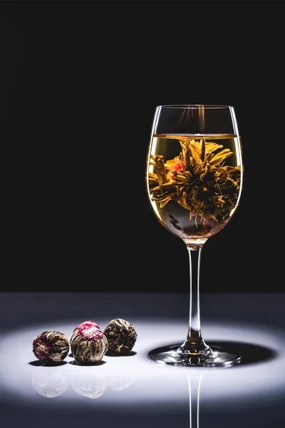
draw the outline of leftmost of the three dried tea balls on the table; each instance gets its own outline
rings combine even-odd
[[[62,362],[69,352],[66,335],[56,330],[45,330],[33,339],[33,353],[46,364]]]

